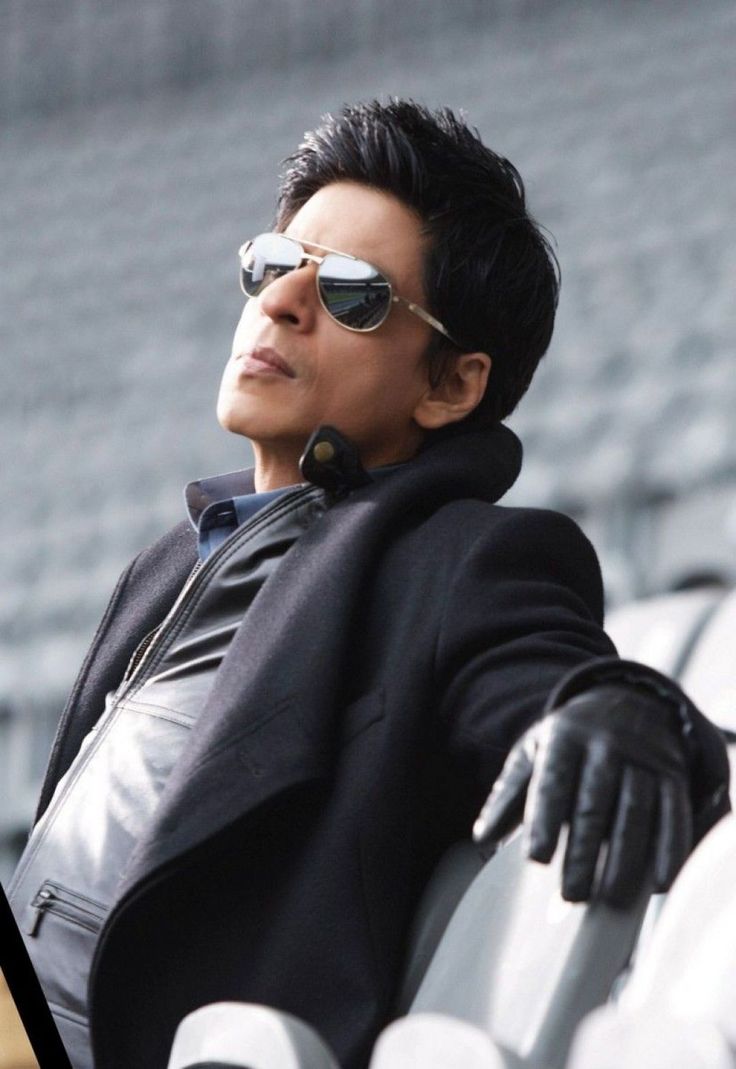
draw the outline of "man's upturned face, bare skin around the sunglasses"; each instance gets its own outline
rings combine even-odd
[[[423,237],[414,213],[388,193],[352,182],[324,186],[285,230],[367,260],[394,293],[426,307]],[[423,432],[414,420],[429,389],[424,361],[430,327],[404,306],[367,334],[327,315],[317,293],[317,264],[271,282],[246,301],[217,402],[224,428],[254,443],[257,464],[293,467],[307,438],[331,423],[378,466],[412,456]]]

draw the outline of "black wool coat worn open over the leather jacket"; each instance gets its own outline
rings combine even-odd
[[[101,933],[97,1069],[164,1069],[181,1018],[219,1000],[295,1013],[366,1064],[431,867],[553,684],[615,652],[579,528],[493,503],[520,456],[503,427],[433,445],[336,503],[260,590]],[[41,811],[195,559],[181,524],[123,573]]]

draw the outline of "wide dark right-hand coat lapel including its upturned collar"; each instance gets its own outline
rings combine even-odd
[[[283,791],[329,774],[346,664],[356,640],[349,622],[363,584],[408,511],[505,492],[518,474],[520,447],[511,432],[500,432],[495,450],[488,433],[464,435],[461,449],[449,441],[427,450],[335,505],[294,544],[223,660],[121,896]],[[469,463],[469,437],[481,438],[476,463]]]

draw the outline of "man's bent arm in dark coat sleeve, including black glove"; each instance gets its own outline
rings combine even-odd
[[[530,855],[549,861],[569,824],[564,896],[622,904],[650,871],[656,889],[670,885],[727,809],[729,765],[675,684],[614,655],[601,601],[595,553],[571,521],[509,510],[459,562],[440,715],[469,791],[486,777],[485,796],[503,765],[476,839],[525,819]]]

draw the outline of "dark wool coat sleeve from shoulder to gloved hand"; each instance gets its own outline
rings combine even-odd
[[[454,571],[435,660],[440,731],[473,804],[561,677],[616,652],[602,628],[598,559],[577,524],[545,510],[499,512]]]

